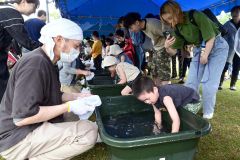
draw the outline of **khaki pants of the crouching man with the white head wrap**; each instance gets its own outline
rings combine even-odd
[[[7,160],[71,159],[92,148],[97,136],[97,125],[90,121],[45,122],[1,156]]]

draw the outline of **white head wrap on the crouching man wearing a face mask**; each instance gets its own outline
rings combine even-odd
[[[60,18],[58,20],[52,21],[46,24],[41,29],[41,37],[39,41],[43,44],[49,42],[49,38],[62,36],[71,40],[83,40],[83,31],[73,21],[70,21],[65,18]]]

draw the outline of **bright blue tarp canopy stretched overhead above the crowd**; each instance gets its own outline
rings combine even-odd
[[[131,11],[139,12],[143,17],[148,13],[157,15],[159,7],[164,2],[165,0],[56,0],[62,16],[77,22],[83,30],[95,25],[99,28],[112,28],[109,25],[115,25],[119,17]],[[177,0],[177,2],[183,10],[210,8],[216,15],[221,11],[229,12],[233,6],[240,4],[240,0]]]

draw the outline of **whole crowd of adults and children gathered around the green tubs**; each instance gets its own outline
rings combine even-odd
[[[44,11],[24,22],[21,14],[34,13],[39,3],[16,0],[0,6],[0,155],[6,159],[70,159],[94,146],[95,123],[63,117],[85,114],[82,99],[91,94],[81,93],[76,79],[92,72],[109,71],[118,84],[126,84],[122,95],[152,105],[158,128],[164,107],[172,133],[180,129],[178,107],[196,114],[202,101],[203,118],[213,118],[216,94],[230,66],[230,89],[236,90],[239,6],[221,28],[205,12],[183,12],[177,2],[166,1],[158,16],[129,12],[119,18],[115,33],[105,37],[94,31],[84,38],[79,25],[68,19],[46,24]],[[10,74],[7,58],[13,43],[24,55]],[[171,84],[177,57],[178,83],[184,85]]]

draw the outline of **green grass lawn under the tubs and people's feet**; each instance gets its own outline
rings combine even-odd
[[[230,91],[229,81],[217,94],[216,112],[210,121],[212,132],[201,138],[195,160],[240,160],[240,85]],[[73,160],[108,160],[107,148],[97,144]],[[0,160],[2,160],[0,158]]]

